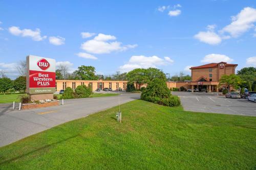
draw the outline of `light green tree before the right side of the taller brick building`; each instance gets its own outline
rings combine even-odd
[[[237,75],[231,74],[231,75],[223,75],[220,80],[220,85],[226,85],[228,88],[228,91],[230,91],[230,87],[238,88],[238,86],[244,81]]]

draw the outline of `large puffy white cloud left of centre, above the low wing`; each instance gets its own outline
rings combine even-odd
[[[81,49],[92,54],[109,54],[115,51],[125,51],[137,46],[137,44],[122,45],[122,43],[118,41],[109,42],[115,39],[116,37],[112,35],[98,34],[94,39],[83,42]]]

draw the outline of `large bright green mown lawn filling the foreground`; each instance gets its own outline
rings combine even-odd
[[[136,100],[0,148],[0,169],[255,169],[256,117]],[[72,114],[72,113],[70,113]]]

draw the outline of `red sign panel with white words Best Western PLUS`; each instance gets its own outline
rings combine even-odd
[[[55,87],[55,72],[29,70],[29,88]]]

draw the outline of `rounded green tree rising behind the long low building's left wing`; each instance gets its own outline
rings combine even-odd
[[[75,77],[79,77],[82,80],[98,80],[95,76],[95,67],[81,65],[78,70],[74,71]]]

